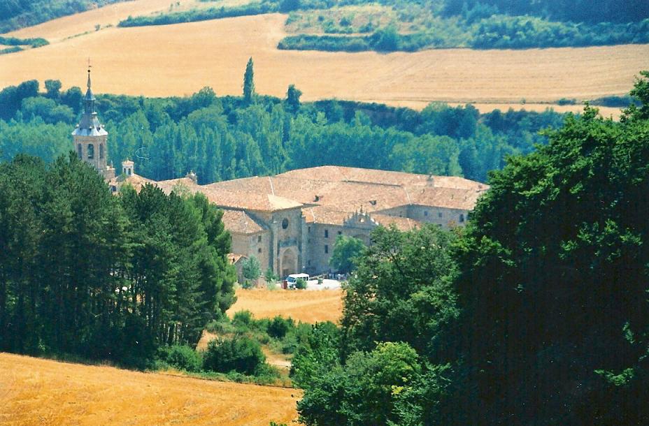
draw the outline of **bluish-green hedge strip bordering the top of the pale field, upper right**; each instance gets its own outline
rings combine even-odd
[[[283,50],[329,52],[416,52],[422,49],[526,49],[649,43],[649,19],[640,22],[575,24],[534,16],[487,15],[465,19],[436,17],[428,29],[401,34],[390,25],[367,36],[298,34],[280,40]]]

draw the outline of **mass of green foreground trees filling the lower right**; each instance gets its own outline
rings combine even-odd
[[[649,72],[490,175],[464,230],[378,228],[292,375],[308,425],[646,425]]]

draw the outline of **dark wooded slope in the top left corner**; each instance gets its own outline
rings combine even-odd
[[[0,34],[124,0],[3,0]]]

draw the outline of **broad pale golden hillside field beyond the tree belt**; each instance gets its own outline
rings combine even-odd
[[[220,95],[240,94],[245,63],[252,57],[262,94],[285,96],[287,86],[295,84],[305,101],[335,97],[418,109],[447,101],[475,103],[482,110],[543,110],[559,98],[625,94],[634,75],[649,68],[649,45],[390,54],[282,51],[276,49],[285,36],[281,14],[94,31],[95,24],[165,8],[168,0],[136,0],[15,31],[10,35],[43,36],[52,44],[2,55],[0,87],[31,78],[83,87],[90,57],[98,93],[169,96],[210,86]]]

